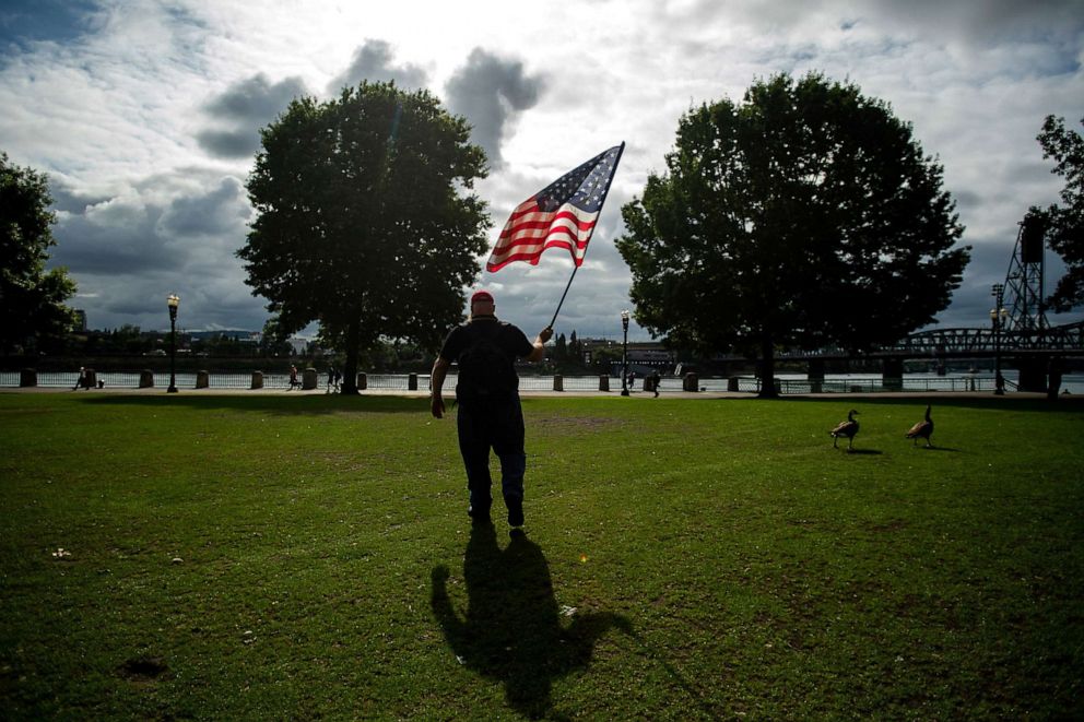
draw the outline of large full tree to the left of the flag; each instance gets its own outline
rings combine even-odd
[[[345,352],[344,393],[381,338],[435,348],[487,246],[471,192],[485,153],[467,121],[425,91],[362,83],[295,99],[261,137],[248,179],[258,216],[237,255],[276,329],[319,321],[321,341]]]

